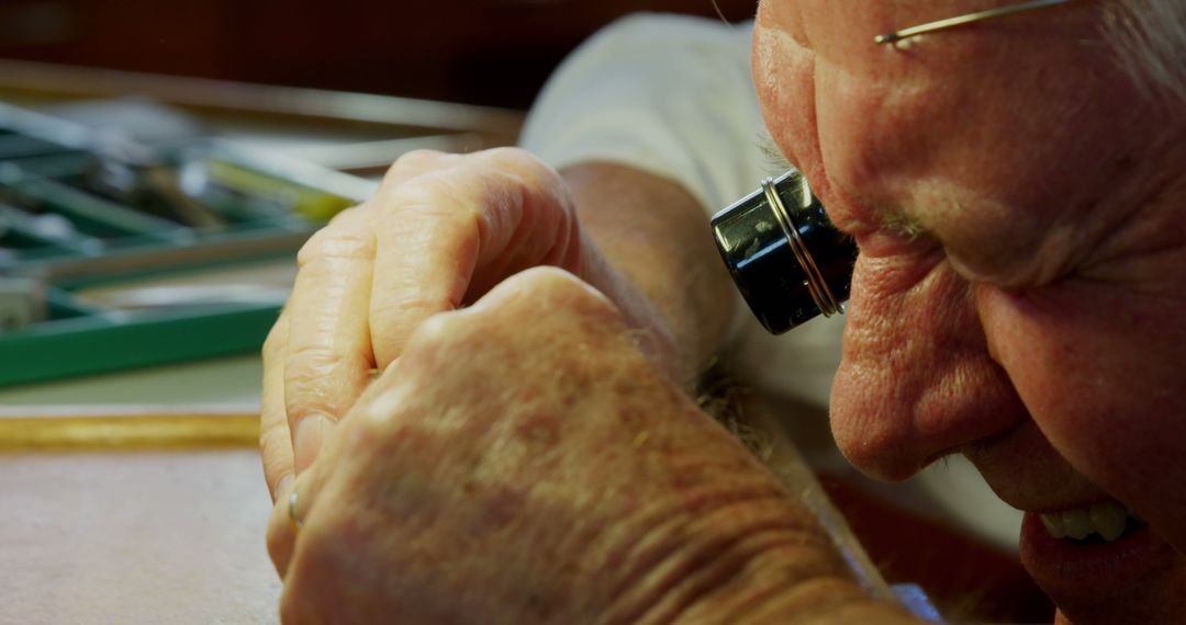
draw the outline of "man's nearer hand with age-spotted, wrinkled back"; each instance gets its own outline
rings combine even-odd
[[[269,528],[285,623],[734,621],[773,597],[808,613],[869,604],[618,309],[555,269],[421,323],[295,488],[302,528],[287,491]]]

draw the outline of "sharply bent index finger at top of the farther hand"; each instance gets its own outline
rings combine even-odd
[[[429,316],[537,264],[575,265],[575,219],[559,176],[521,150],[447,162],[375,199],[371,335],[380,368]],[[575,266],[567,269],[576,270]]]

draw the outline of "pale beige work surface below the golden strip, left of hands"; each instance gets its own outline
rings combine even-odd
[[[254,450],[0,455],[0,624],[276,623]]]

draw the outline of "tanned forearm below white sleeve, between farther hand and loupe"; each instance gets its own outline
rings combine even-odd
[[[735,302],[704,208],[676,182],[626,166],[561,174],[585,232],[670,329],[680,382],[689,386],[720,347]]]

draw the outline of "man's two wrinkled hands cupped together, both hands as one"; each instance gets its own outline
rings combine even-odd
[[[264,346],[285,623],[908,620],[689,399],[529,155],[401,159],[300,264]]]

